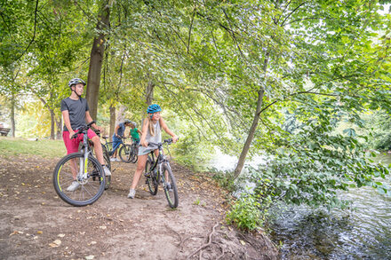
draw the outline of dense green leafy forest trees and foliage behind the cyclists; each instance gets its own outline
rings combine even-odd
[[[247,228],[274,201],[389,194],[371,158],[391,147],[390,18],[387,1],[2,0],[0,122],[13,137],[61,138],[74,77],[109,135],[157,103],[181,162],[236,156],[216,176],[256,184],[232,210],[260,212]],[[256,154],[267,163],[244,176]]]

